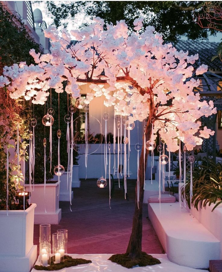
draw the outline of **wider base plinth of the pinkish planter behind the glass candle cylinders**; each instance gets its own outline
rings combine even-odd
[[[34,224],[55,224],[58,225],[62,218],[62,210],[58,209],[56,212],[36,212],[34,216]]]

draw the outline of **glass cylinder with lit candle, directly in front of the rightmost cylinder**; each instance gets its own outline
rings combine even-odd
[[[64,261],[64,234],[62,232],[52,234],[52,251],[54,264]]]

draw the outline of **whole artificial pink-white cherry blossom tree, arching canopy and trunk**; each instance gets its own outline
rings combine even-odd
[[[216,113],[213,102],[200,101],[194,87],[199,80],[192,75],[203,74],[207,66],[194,70],[192,64],[198,54],[188,56],[188,52],[178,52],[171,43],[164,44],[160,34],[153,27],[141,32],[142,19],[134,22],[134,31],[129,35],[124,21],[107,25],[94,19],[94,24],[83,30],[63,31],[59,36],[56,28],[45,30],[51,39],[51,54],[40,55],[30,51],[36,65],[25,63],[5,67],[0,77],[0,86],[6,84],[10,96],[24,96],[32,103],[44,104],[49,89],[63,92],[62,82],[67,93],[80,96],[79,84],[90,83],[87,104],[97,96],[104,96],[104,104],[114,106],[116,114],[128,116],[130,121],[147,120],[145,140],[151,138],[154,117],[154,137],[159,131],[167,149],[179,149],[179,140],[188,150],[201,145],[202,138],[214,132],[201,127],[201,116]],[[71,44],[72,36],[78,42]],[[187,80],[191,78],[190,80]],[[133,88],[132,88],[133,87]],[[144,139],[143,139],[144,141]],[[145,163],[144,163],[145,152]],[[139,161],[139,205],[135,205],[132,234],[126,256],[135,259],[142,255],[142,203],[144,196],[144,165],[148,150],[141,150]],[[136,202],[137,202],[136,190]]]

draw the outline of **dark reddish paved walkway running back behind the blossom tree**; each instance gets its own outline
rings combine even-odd
[[[127,181],[128,201],[124,198],[122,187],[116,186],[111,200],[111,209],[109,208],[109,186],[99,188],[96,181],[96,179],[81,180],[81,187],[73,188],[72,212],[68,202],[59,202],[59,207],[62,208],[62,219],[59,225],[51,225],[51,234],[57,229],[68,229],[69,254],[113,254],[126,251],[135,208],[136,181]],[[34,244],[39,247],[39,225],[34,225]],[[148,254],[164,253],[147,219],[145,204],[142,250]]]

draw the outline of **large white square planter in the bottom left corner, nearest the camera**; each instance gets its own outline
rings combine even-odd
[[[0,211],[0,271],[29,272],[37,258],[33,245],[34,209]]]

